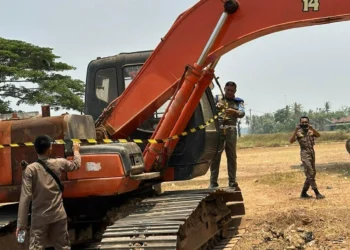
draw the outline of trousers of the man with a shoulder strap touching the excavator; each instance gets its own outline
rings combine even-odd
[[[55,250],[71,249],[67,219],[31,227],[29,250],[44,250],[48,245]]]

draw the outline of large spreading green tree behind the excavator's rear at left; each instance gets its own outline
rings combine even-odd
[[[0,37],[0,113],[20,104],[50,104],[55,110],[83,111],[84,84],[64,74],[75,67],[59,62],[52,48]],[[17,110],[18,112],[18,110]]]

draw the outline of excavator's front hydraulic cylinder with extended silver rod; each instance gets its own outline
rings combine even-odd
[[[174,128],[174,125],[176,124],[178,117],[180,116],[181,113],[184,112],[184,106],[187,103],[188,99],[191,96],[191,93],[194,89],[195,84],[198,82],[198,80],[201,78],[203,74],[203,67],[204,62],[210,53],[210,50],[213,47],[213,44],[216,42],[217,37],[220,34],[220,31],[222,30],[223,25],[225,24],[227,17],[229,14],[234,13],[238,9],[238,4],[234,0],[228,0],[224,4],[224,12],[222,13],[219,21],[217,22],[207,44],[205,45],[197,63],[193,65],[190,71],[187,72],[186,78],[184,83],[181,85],[180,90],[175,94],[174,100],[170,104],[171,106],[169,107],[168,111],[164,114],[165,118],[162,119],[161,122],[158,123],[157,126],[157,133],[154,133],[152,136],[152,139],[162,139],[162,138],[168,138],[172,128]],[[210,81],[209,81],[210,84]],[[209,84],[207,86],[209,86]],[[205,90],[205,89],[204,89]],[[201,93],[204,93],[204,91]],[[200,98],[198,99],[197,103],[194,103],[195,106],[199,103]],[[190,105],[193,106],[193,105]],[[183,127],[183,129],[186,127],[189,119],[192,116],[192,113],[185,114],[183,116],[182,122],[184,124],[178,125],[180,128]],[[185,119],[186,118],[186,119]],[[182,131],[183,131],[182,129]],[[179,132],[182,132],[179,131]],[[159,159],[161,150],[163,149],[163,144],[148,144],[145,153],[144,153],[144,161],[145,161],[145,171],[150,172],[153,169],[159,170],[163,166],[159,167],[158,163],[159,162],[164,162],[162,159]],[[155,165],[155,162],[158,162]]]

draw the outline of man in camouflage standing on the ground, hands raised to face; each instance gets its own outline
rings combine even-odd
[[[303,116],[300,118],[300,124],[295,128],[295,131],[290,138],[290,143],[298,140],[300,145],[300,156],[304,166],[306,180],[302,189],[300,198],[308,199],[312,196],[307,194],[310,186],[316,194],[316,199],[323,199],[325,196],[319,193],[316,185],[316,168],[315,168],[315,138],[320,137],[320,134],[309,124],[309,118]]]

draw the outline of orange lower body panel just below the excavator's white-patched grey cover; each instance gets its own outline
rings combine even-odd
[[[123,177],[86,179],[64,182],[64,198],[110,196],[118,194]]]

